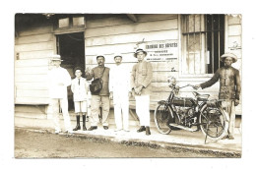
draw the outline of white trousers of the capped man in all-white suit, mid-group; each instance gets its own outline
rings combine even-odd
[[[129,129],[129,96],[113,91],[114,120],[116,129]]]

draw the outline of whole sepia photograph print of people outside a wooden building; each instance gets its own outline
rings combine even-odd
[[[16,159],[241,158],[242,14],[14,18]]]

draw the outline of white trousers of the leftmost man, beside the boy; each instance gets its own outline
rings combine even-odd
[[[51,98],[52,105],[52,118],[55,131],[60,132],[60,123],[59,123],[59,112],[62,110],[63,118],[64,118],[64,126],[65,131],[71,132],[71,123],[68,112],[68,99],[67,98]]]

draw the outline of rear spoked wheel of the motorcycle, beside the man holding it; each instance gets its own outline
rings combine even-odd
[[[200,128],[211,140],[221,140],[227,131],[228,123],[223,111],[218,108],[206,108],[199,117]]]

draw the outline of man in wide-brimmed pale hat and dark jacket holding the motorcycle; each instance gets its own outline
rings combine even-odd
[[[206,88],[214,85],[220,80],[219,98],[224,99],[227,107],[224,108],[229,115],[228,135],[225,137],[233,140],[233,131],[235,125],[234,106],[239,104],[239,95],[241,91],[239,71],[231,67],[231,64],[237,61],[237,57],[232,53],[225,53],[221,56],[224,67],[220,68],[214,77],[206,83],[195,85],[194,88]]]

